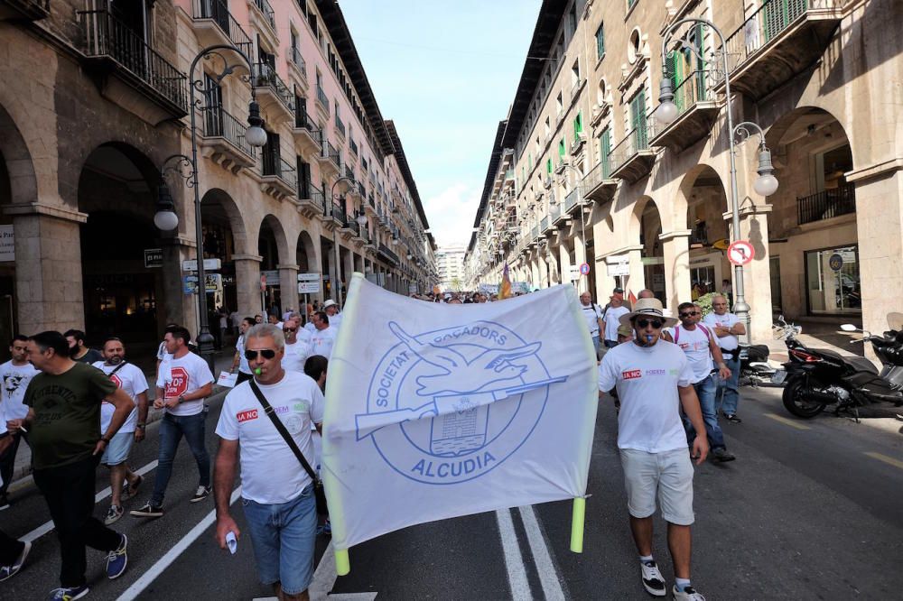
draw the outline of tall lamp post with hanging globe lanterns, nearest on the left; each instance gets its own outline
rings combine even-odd
[[[242,66],[241,64],[235,65],[231,64],[229,60],[224,56],[220,51],[233,51],[238,56],[244,60],[245,65],[247,67],[248,77],[247,81],[250,80],[250,75],[252,73],[251,69],[251,61],[247,58],[244,52],[238,50],[235,46],[231,44],[214,44],[212,46],[207,46],[202,49],[198,54],[194,57],[194,60],[191,61],[191,69],[189,69],[189,88],[191,88],[191,104],[189,105],[189,112],[191,113],[191,157],[186,156],[184,154],[173,154],[166,158],[163,161],[163,165],[161,167],[161,177],[166,171],[174,171],[178,173],[183,180],[185,180],[185,185],[194,190],[194,227],[195,227],[195,237],[197,240],[197,255],[198,255],[198,350],[200,350],[200,356],[207,361],[207,365],[210,367],[210,371],[213,371],[213,336],[210,334],[209,322],[207,319],[207,286],[206,279],[207,275],[204,273],[204,240],[203,240],[203,228],[201,226],[201,216],[200,216],[200,185],[198,182],[198,127],[196,123],[195,116],[195,106],[199,106],[198,100],[195,100],[195,91],[203,91],[205,89],[205,82],[203,79],[194,79],[194,69],[198,66],[198,62],[201,59],[210,59],[212,57],[217,57],[219,60],[222,60],[223,69],[219,72],[214,79],[216,79],[219,84],[220,81],[225,79],[229,74],[234,72],[234,69]],[[248,117],[247,117],[247,129],[245,130],[245,139],[247,143],[250,145],[259,148],[266,143],[266,132],[263,129],[264,120],[260,116],[260,107],[257,106],[257,103],[254,99],[254,86],[251,86],[251,102],[248,105]],[[174,164],[171,167],[166,167],[167,163],[174,161]],[[154,216],[154,224],[157,227],[163,226],[172,226],[170,229],[177,227],[179,225],[178,217],[172,214],[172,217],[168,216],[167,213],[172,213],[172,197],[170,196],[169,190],[166,188],[165,184],[163,184],[158,190],[158,207],[163,207],[166,205],[170,207],[169,210],[160,210]],[[174,221],[173,221],[174,217]]]

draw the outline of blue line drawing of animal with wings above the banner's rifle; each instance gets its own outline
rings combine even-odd
[[[440,347],[423,343],[411,336],[395,321],[389,329],[414,355],[426,363],[441,369],[443,374],[421,375],[417,378],[420,396],[489,392],[504,388],[505,383],[517,380],[526,373],[526,365],[511,363],[514,359],[533,356],[543,343],[534,342],[517,348],[493,348],[480,353],[470,361],[452,347]],[[517,384],[521,384],[518,381]]]

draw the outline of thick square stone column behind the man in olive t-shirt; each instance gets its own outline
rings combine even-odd
[[[79,225],[88,216],[45,205],[9,206],[15,232],[18,331],[85,328]]]

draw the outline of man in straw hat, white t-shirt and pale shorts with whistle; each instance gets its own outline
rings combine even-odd
[[[701,600],[703,596],[690,583],[693,464],[679,413],[682,407],[694,428],[703,431],[693,369],[680,348],[659,343],[662,328],[676,323],[664,316],[661,301],[639,300],[620,321],[634,329],[635,339],[602,357],[599,391],[616,388],[620,399],[618,448],[640,577],[648,593],[666,595],[665,578],[652,557],[657,496],[668,522],[668,549],[675,571],[672,595],[682,601]],[[696,437],[691,452],[697,465],[702,463],[709,452],[706,439]]]

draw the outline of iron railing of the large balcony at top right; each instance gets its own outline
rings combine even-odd
[[[849,0],[765,0],[724,41],[731,69],[759,51],[811,8],[841,8]]]

